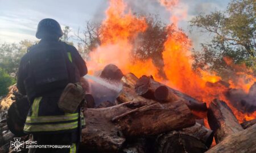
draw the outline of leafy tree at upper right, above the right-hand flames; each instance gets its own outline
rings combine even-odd
[[[232,0],[226,11],[200,14],[191,20],[191,26],[213,34],[210,42],[195,51],[195,67],[221,72],[228,68],[224,57],[235,63],[246,63],[255,69],[255,1]],[[255,69],[256,70],[256,69]]]

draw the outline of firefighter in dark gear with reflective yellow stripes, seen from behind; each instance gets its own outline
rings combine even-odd
[[[80,134],[79,109],[65,113],[57,103],[68,83],[77,83],[87,73],[77,49],[59,40],[60,24],[43,19],[38,24],[38,44],[22,57],[17,87],[30,101],[24,133],[32,134],[36,145],[67,145],[71,148],[35,148],[30,152],[76,152]],[[83,119],[83,118],[81,118]]]

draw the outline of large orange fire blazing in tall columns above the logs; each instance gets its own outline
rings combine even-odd
[[[144,18],[133,15],[123,0],[109,1],[110,6],[106,10],[106,19],[102,22],[100,28],[101,45],[90,53],[90,61],[88,61],[89,72],[93,73],[93,71],[100,70],[105,65],[113,63],[123,73],[134,73],[138,77],[152,75],[159,82],[164,82],[168,86],[208,104],[214,98],[224,100],[240,122],[256,118],[256,112],[250,114],[242,113],[229,103],[223,94],[227,89],[226,87],[208,86],[211,83],[222,80],[220,76],[203,70],[197,70],[196,73],[192,69],[192,42],[183,31],[177,28],[177,22],[185,16],[186,11],[181,12],[181,15],[172,14],[172,8],[175,8],[179,3],[178,0],[159,0],[159,2],[167,8],[167,11],[170,11],[170,22],[174,23],[168,26],[168,28],[174,30],[168,35],[162,53],[163,70],[167,80],[158,75],[158,68],[152,63],[151,59],[139,61],[131,57],[133,49],[131,40],[134,40],[140,32],[144,32],[147,29],[147,23]],[[246,69],[243,73],[235,74],[236,77],[230,78],[228,83],[230,87],[241,88],[247,93],[252,84],[256,82],[256,78],[248,73],[250,70],[246,66],[234,65],[228,58],[225,61],[235,69]]]

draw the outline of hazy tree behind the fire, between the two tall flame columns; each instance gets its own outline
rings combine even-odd
[[[171,28],[162,22],[159,15],[147,15],[147,29],[139,33],[138,37],[132,42],[134,58],[152,59],[152,62],[158,67],[159,74],[165,78],[163,67],[162,52],[164,50],[164,42],[170,35]]]

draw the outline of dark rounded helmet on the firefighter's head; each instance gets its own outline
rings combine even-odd
[[[46,35],[55,35],[61,37],[63,32],[61,31],[60,24],[53,19],[43,19],[38,23],[38,29],[36,31],[36,37],[42,39]]]

